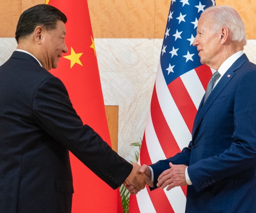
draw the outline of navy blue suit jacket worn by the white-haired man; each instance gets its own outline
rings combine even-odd
[[[154,185],[169,162],[185,164],[187,213],[256,212],[256,65],[242,55],[203,100],[189,146],[151,165]]]

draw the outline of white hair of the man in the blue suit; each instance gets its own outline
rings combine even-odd
[[[239,41],[243,45],[246,45],[247,39],[244,23],[235,9],[230,6],[212,6],[205,9],[202,14],[207,12],[212,12],[211,17],[214,20],[214,32],[219,32],[221,27],[227,27],[230,30],[231,40]]]

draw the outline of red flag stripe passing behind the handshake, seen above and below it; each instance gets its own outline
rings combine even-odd
[[[140,150],[140,159],[141,159],[141,161],[140,161],[141,165],[142,164],[147,164],[147,165],[152,164],[150,156],[148,154],[148,148],[147,148],[147,144],[145,141],[145,134],[143,136],[143,142],[142,142],[142,146],[141,146],[141,150]],[[146,187],[148,190],[148,195],[151,199],[152,204],[154,205],[156,212],[165,212],[166,209],[168,209],[168,212],[170,212],[170,213],[174,212],[174,210],[172,209],[172,206],[171,206],[169,200],[167,199],[166,194],[164,193],[163,190],[156,189],[156,190],[150,191],[148,186],[146,186]],[[130,203],[131,203],[131,200],[130,200]],[[132,204],[133,204],[133,202],[132,202]]]

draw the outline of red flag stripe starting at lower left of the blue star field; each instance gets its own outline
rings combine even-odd
[[[197,112],[195,104],[190,98],[190,95],[180,77],[169,83],[168,88],[183,120],[192,134],[195,114]]]

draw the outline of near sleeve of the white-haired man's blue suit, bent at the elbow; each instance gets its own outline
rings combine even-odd
[[[189,177],[196,191],[201,182],[215,183],[241,172],[250,171],[256,161],[256,71],[245,74],[239,82],[234,98],[234,131],[232,144],[224,152],[202,159],[188,167]],[[221,124],[220,124],[221,125]],[[253,174],[254,175],[254,174]],[[209,187],[209,186],[208,186]]]

